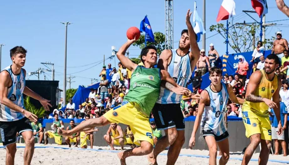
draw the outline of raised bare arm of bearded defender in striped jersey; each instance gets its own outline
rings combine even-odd
[[[191,67],[192,67],[192,69],[194,69],[197,61],[200,58],[200,49],[199,49],[199,46],[197,43],[196,33],[195,33],[193,26],[191,24],[191,21],[190,21],[191,14],[192,14],[192,12],[190,13],[190,9],[188,9],[187,16],[186,16],[186,24],[188,27],[188,36],[189,36],[190,46],[191,46],[191,52],[189,55],[191,57],[191,61],[193,61]]]

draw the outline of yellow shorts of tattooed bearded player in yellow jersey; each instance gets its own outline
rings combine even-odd
[[[271,140],[272,131],[269,117],[254,114],[250,109],[242,109],[243,123],[246,128],[246,136],[249,138],[254,134],[261,134],[261,139]]]

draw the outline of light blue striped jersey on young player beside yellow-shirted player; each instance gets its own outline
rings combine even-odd
[[[216,136],[222,135],[227,131],[225,122],[225,109],[228,102],[229,94],[226,84],[221,82],[222,89],[220,92],[213,92],[207,87],[210,96],[210,106],[204,107],[204,113],[201,120],[202,130],[212,130]]]

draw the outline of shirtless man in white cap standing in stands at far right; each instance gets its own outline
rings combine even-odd
[[[273,43],[272,47],[272,54],[274,53],[279,57],[279,60],[281,61],[281,58],[284,57],[283,51],[286,49],[288,50],[288,42],[286,39],[282,38],[281,31],[278,31],[276,33],[277,39]]]

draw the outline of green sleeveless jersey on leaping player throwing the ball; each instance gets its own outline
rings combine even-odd
[[[149,117],[160,95],[161,75],[159,68],[138,66],[131,75],[129,92],[124,100],[137,103],[136,109]]]

